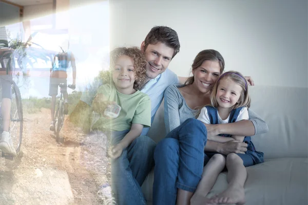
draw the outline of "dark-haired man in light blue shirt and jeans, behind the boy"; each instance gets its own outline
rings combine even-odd
[[[175,30],[165,27],[153,27],[141,44],[147,65],[147,80],[141,92],[146,93],[151,100],[151,122],[155,117],[165,89],[173,84],[179,84],[178,76],[168,69],[169,63],[180,51],[180,42]],[[74,118],[77,112],[89,110],[99,86],[103,83],[95,80],[93,85],[83,94],[75,111],[70,116]],[[84,117],[84,116],[82,116]],[[141,185],[153,167],[155,142],[145,136],[149,128],[144,128],[141,137],[135,139],[122,155],[112,163],[112,189],[119,205],[146,204],[141,191]]]

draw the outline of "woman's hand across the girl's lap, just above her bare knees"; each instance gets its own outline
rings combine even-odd
[[[219,153],[228,155],[230,153],[245,154],[247,151],[247,144],[239,140],[232,140],[221,144]]]

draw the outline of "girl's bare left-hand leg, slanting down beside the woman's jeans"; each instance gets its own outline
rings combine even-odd
[[[199,182],[196,192],[191,197],[190,204],[204,204],[208,201],[206,195],[214,186],[219,173],[223,170],[226,165],[226,158],[221,154],[215,154],[207,162],[203,168],[202,179]]]

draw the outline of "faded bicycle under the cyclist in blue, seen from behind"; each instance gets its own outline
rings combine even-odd
[[[55,129],[54,129],[54,134],[55,134],[55,140],[57,142],[59,142],[59,139],[60,139],[60,130],[63,126],[63,122],[64,122],[64,116],[65,116],[65,113],[64,113],[64,104],[65,104],[65,101],[64,101],[64,97],[63,97],[63,91],[62,89],[65,87],[66,85],[64,85],[63,83],[59,85],[60,87],[60,100],[57,102],[57,109],[55,111],[55,114],[54,114],[54,122],[55,122]],[[74,90],[75,89],[75,86],[74,85],[68,85],[67,86],[68,88]]]

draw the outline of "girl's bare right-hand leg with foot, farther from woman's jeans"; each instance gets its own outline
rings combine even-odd
[[[212,197],[211,202],[219,204],[245,203],[244,183],[246,181],[247,171],[244,167],[242,158],[244,158],[245,161],[249,160],[253,163],[252,158],[247,154],[243,154],[242,157],[235,153],[227,155],[226,166],[228,169],[228,187],[218,196]]]

